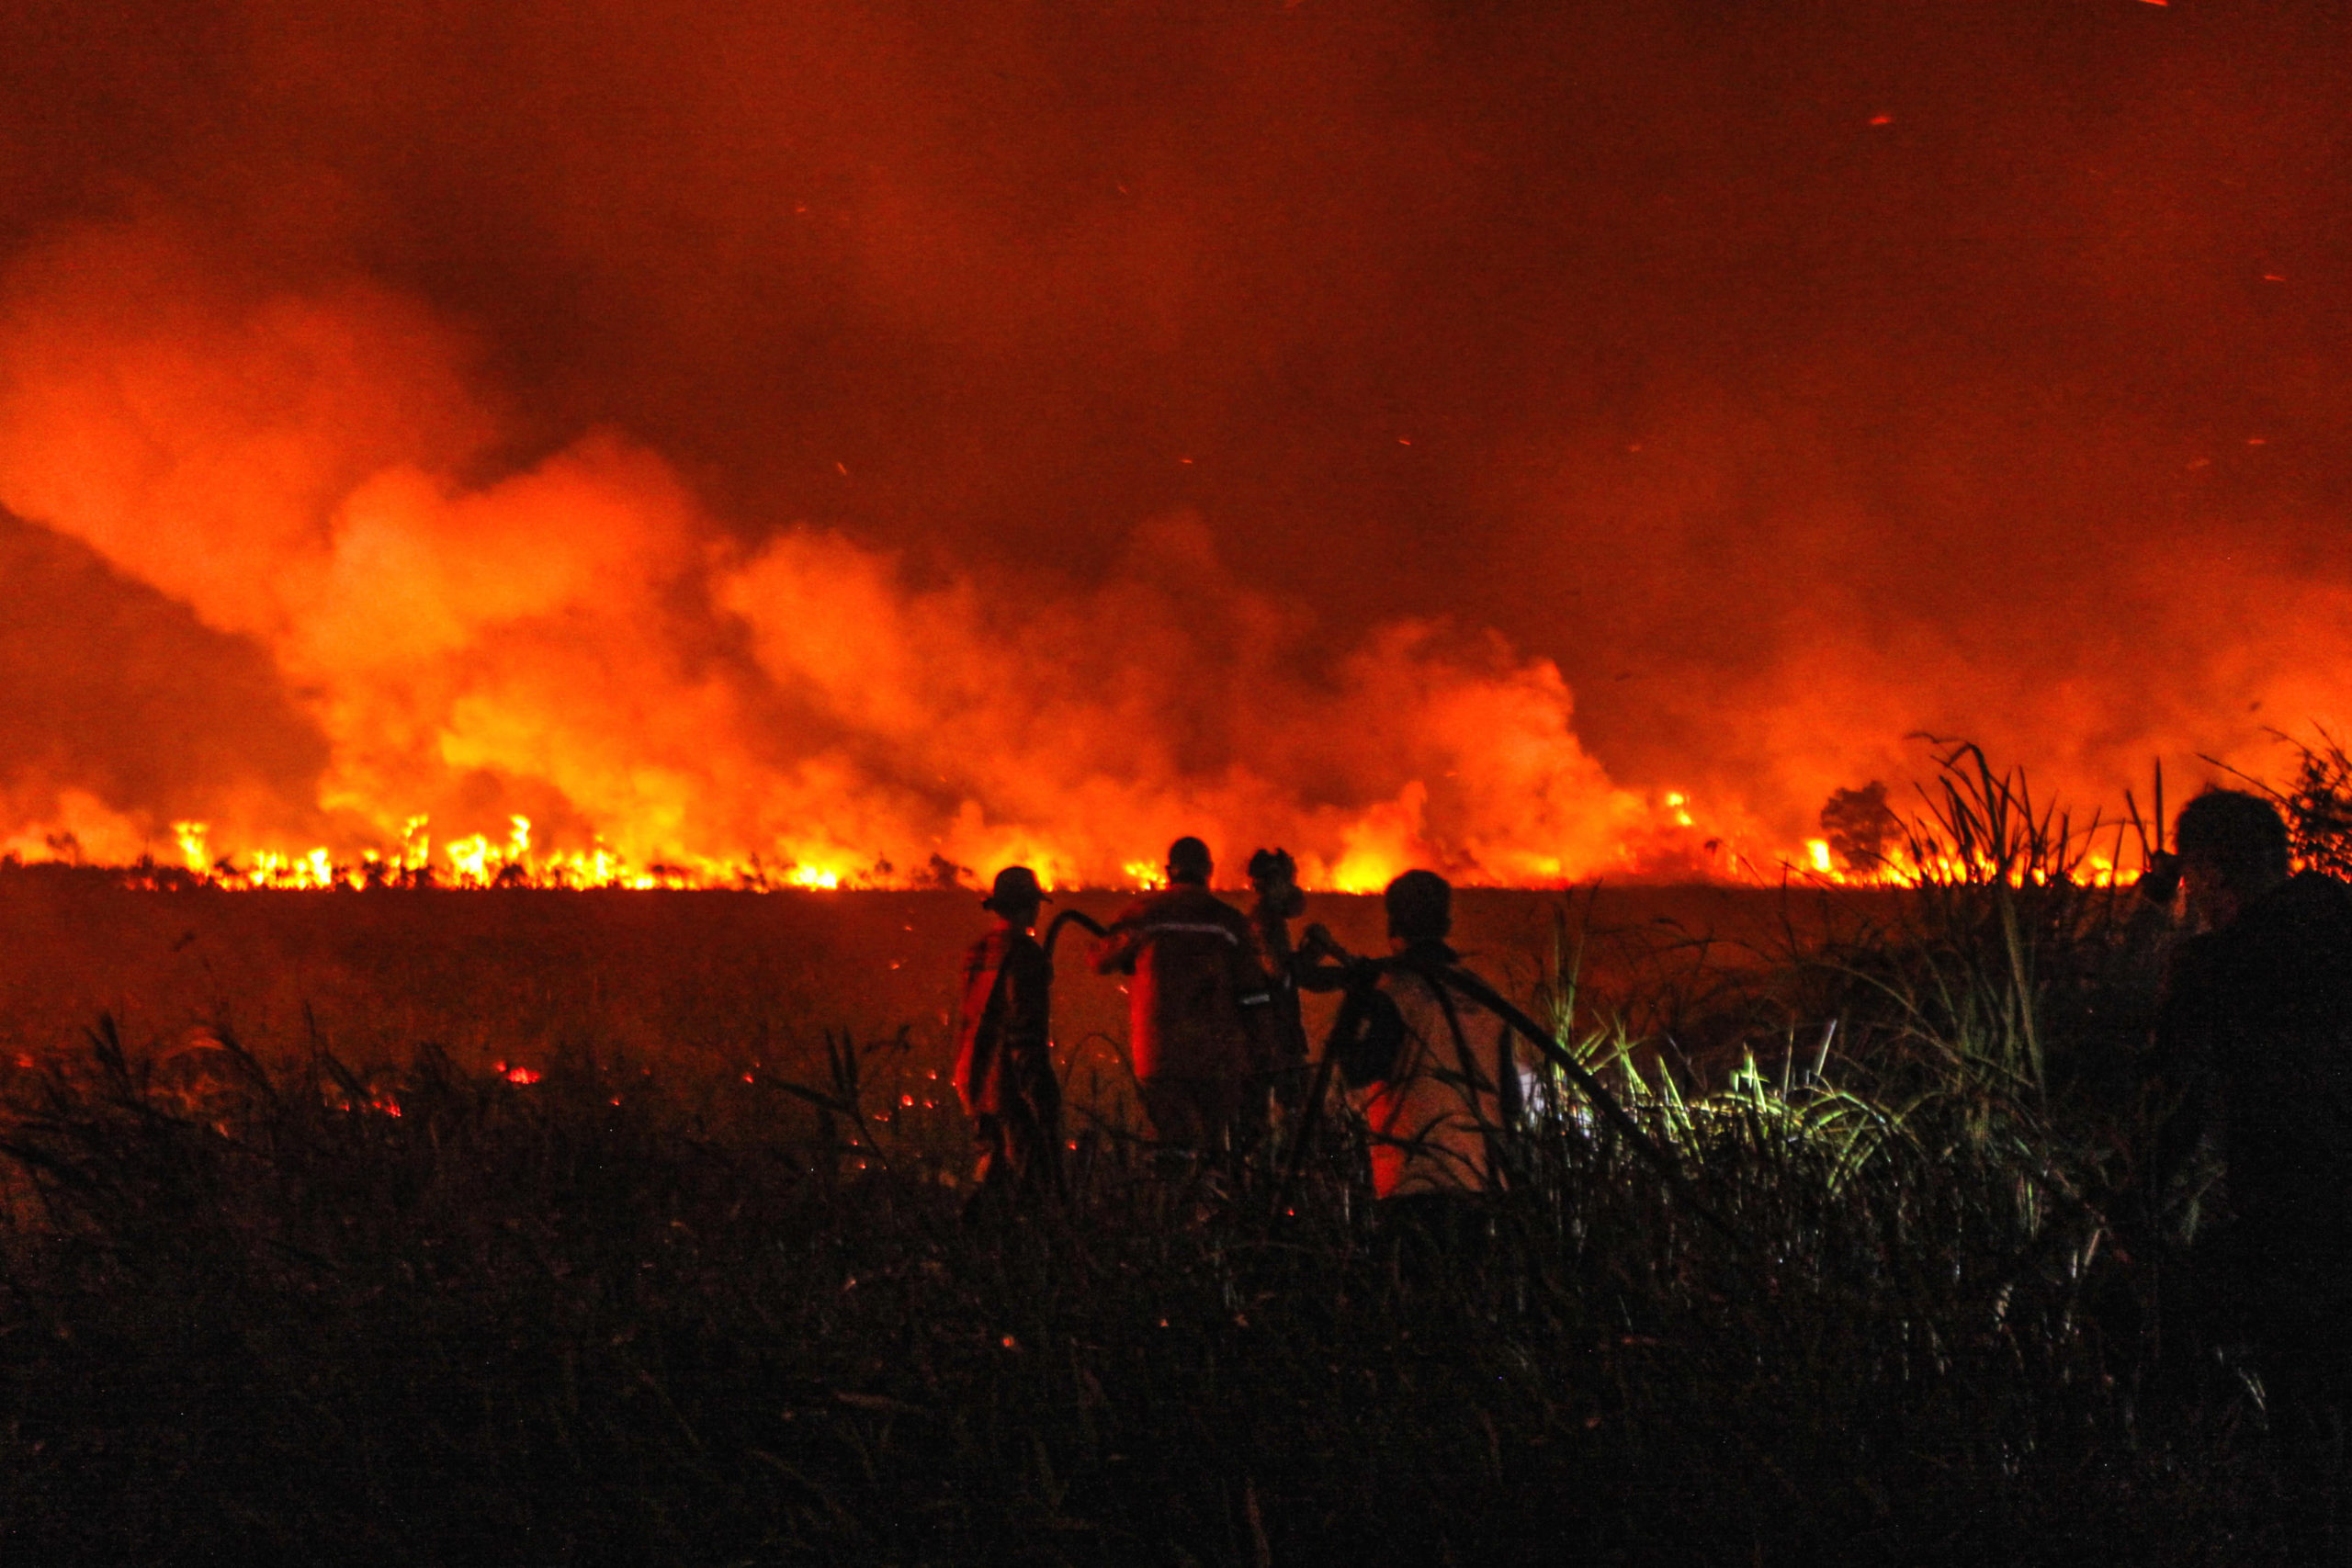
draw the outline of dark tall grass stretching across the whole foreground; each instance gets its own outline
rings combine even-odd
[[[1915,830],[1983,853],[1708,992],[1722,1060],[1581,1013],[1564,957],[1562,1039],[1686,1187],[1555,1079],[1444,1253],[1348,1131],[1272,1218],[1263,1166],[1174,1175],[1117,1126],[1068,1206],[964,1218],[903,1039],[828,1037],[816,1084],[586,1053],[517,1084],[101,1027],[0,1086],[0,1542],[2284,1561],[2251,1401],[2138,1399],[2129,1138],[2082,1063],[2145,933],[2023,780],[1952,764]]]

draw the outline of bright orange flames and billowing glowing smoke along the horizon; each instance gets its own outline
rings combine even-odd
[[[320,748],[158,797],[9,776],[0,853],[252,889],[971,886],[1007,863],[1148,889],[1185,832],[1228,882],[1282,844],[1338,891],[1416,865],[1491,886],[1966,870],[1856,872],[1792,832],[1790,802],[1851,783],[1823,736],[1917,726],[1839,646],[1776,663],[1766,783],[1682,759],[1689,788],[1635,790],[1583,748],[1555,663],[1442,618],[1350,642],[1200,517],[1143,520],[1091,588],[1040,597],[715,515],[616,430],[501,470],[522,442],[466,343],[379,287],[256,299],[148,233],[78,230],[19,259],[0,306],[0,503],[256,649]],[[2352,625],[2352,595],[2291,595],[2213,621]],[[1893,663],[1980,682],[1926,637]],[[2324,675],[2246,682],[2331,708]]]

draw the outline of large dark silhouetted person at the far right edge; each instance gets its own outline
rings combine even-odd
[[[2199,926],[2169,966],[2157,1070],[2176,1107],[2159,1185],[2218,1145],[2218,1215],[2194,1244],[2199,1295],[2253,1340],[2279,1474],[2310,1552],[2336,1512],[2352,1413],[2352,889],[2288,875],[2270,802],[2213,790],[2173,830]],[[2201,1326],[2211,1333],[2209,1326]]]

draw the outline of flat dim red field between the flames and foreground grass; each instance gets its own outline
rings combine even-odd
[[[1247,898],[1247,893],[1242,896]],[[1056,907],[1110,919],[1124,893]],[[1461,943],[1498,976],[1534,983],[1555,959],[1555,917],[1573,910],[1585,983],[1630,997],[1712,938],[1679,973],[1752,961],[1785,945],[1788,900],[1764,889],[1625,889],[1599,898],[1477,891]],[[1357,952],[1385,945],[1376,898],[1315,896]],[[1797,900],[1795,919],[1820,929]],[[402,1060],[435,1041],[470,1065],[567,1048],[644,1060],[800,1072],[826,1030],[882,1039],[901,1030],[922,1065],[946,1065],[946,1025],[964,947],[985,929],[978,898],[924,893],[381,889],[228,893],[139,891],[66,867],[0,872],[0,1051],[47,1056],[99,1016],[139,1037],[228,1027],[256,1048],[303,1051],[320,1037],[360,1060]],[[1127,1032],[1115,980],[1061,943],[1065,1041]],[[800,1060],[795,1060],[800,1058]],[[1110,1058],[1115,1063],[1115,1053]]]

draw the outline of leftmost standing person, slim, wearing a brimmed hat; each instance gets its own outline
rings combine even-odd
[[[1007,865],[981,907],[995,929],[964,954],[955,1023],[955,1093],[971,1117],[978,1164],[964,1213],[1061,1194],[1061,1081],[1051,1051],[1051,969],[1037,945],[1047,903],[1037,872]]]

